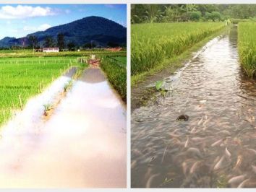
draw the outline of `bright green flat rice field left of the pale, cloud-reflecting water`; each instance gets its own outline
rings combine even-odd
[[[10,118],[12,110],[22,108],[30,97],[75,65],[75,57],[1,58],[0,125]]]

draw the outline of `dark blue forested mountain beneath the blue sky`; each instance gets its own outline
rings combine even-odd
[[[27,46],[28,38],[35,36],[38,44],[43,46],[45,39],[51,36],[57,42],[57,35],[64,34],[67,43],[74,43],[77,46],[93,42],[95,45],[106,47],[108,43],[126,45],[127,28],[103,17],[85,17],[64,25],[48,28],[45,31],[38,31],[23,38],[4,38],[0,40],[1,48],[9,48],[12,45]]]

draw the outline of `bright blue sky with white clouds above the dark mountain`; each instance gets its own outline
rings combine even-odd
[[[0,39],[21,38],[88,16],[127,26],[126,4],[0,4]]]

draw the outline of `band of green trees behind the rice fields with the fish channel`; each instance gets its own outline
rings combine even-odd
[[[256,4],[132,4],[131,22],[223,21],[255,19]]]

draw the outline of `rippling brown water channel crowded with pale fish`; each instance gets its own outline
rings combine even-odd
[[[256,187],[256,82],[236,38],[211,40],[166,78],[165,98],[132,113],[132,187]]]

